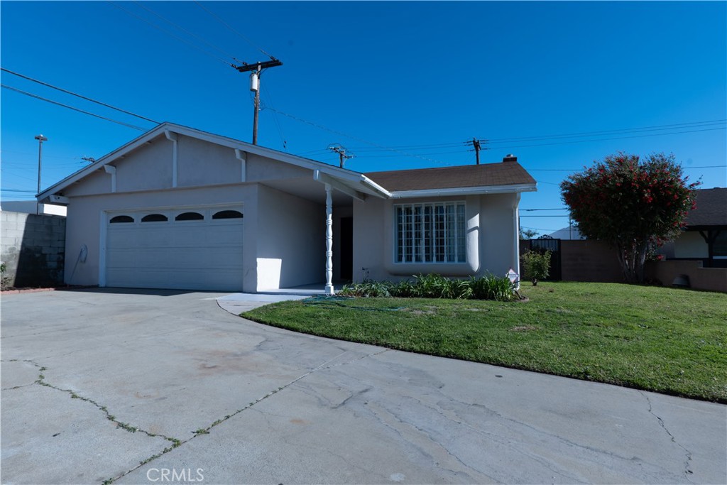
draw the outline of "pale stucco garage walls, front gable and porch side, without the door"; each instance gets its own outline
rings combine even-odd
[[[255,292],[324,280],[325,191],[321,204],[276,191],[257,181],[310,178],[308,169],[246,154],[232,148],[177,135],[177,187],[171,140],[164,135],[140,146],[65,189],[68,204],[65,282],[103,284],[103,242],[107,212],[242,204],[244,207],[244,287]],[[82,246],[87,258],[78,261]]]

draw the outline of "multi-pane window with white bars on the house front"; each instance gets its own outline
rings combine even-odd
[[[393,233],[395,265],[467,263],[465,201],[395,204]]]

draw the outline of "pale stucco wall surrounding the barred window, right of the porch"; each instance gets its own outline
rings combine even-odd
[[[394,206],[433,201],[465,201],[467,262],[395,263]],[[367,199],[353,204],[353,278],[361,281],[411,278],[419,273],[443,276],[505,275],[518,270],[515,250],[517,218],[515,194],[443,197],[437,199]],[[361,268],[366,268],[362,270]]]

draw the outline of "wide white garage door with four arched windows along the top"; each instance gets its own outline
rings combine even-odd
[[[241,291],[241,207],[108,213],[106,286]]]

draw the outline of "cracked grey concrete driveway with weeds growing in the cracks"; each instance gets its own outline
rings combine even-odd
[[[727,482],[727,407],[254,324],[207,293],[1,299],[4,484]]]

